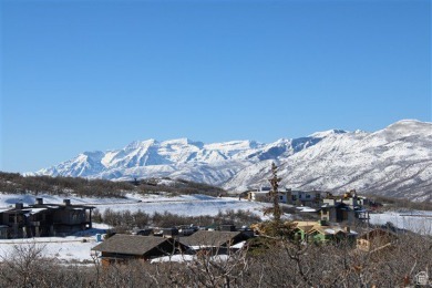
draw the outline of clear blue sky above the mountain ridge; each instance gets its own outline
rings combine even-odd
[[[431,1],[1,1],[0,169],[431,121]]]

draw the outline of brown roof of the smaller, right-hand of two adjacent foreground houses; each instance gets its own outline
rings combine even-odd
[[[241,232],[198,230],[191,236],[182,237],[181,243],[195,247],[219,247],[229,244],[235,238],[240,238],[239,236],[243,236]]]

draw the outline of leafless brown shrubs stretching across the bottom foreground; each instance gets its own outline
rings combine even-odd
[[[349,245],[309,245],[260,238],[227,260],[200,255],[185,264],[131,261],[103,268],[43,258],[43,246],[17,246],[0,264],[1,287],[405,287],[432,271],[432,239],[404,234],[390,250],[362,253]]]

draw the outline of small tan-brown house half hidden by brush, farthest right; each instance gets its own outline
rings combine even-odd
[[[390,248],[397,240],[398,236],[394,233],[377,228],[362,234],[357,239],[357,249],[376,253]]]

